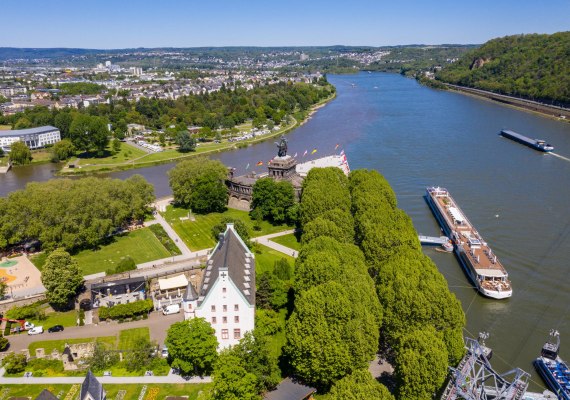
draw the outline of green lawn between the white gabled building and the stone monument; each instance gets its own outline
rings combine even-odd
[[[254,231],[254,221],[249,217],[249,213],[247,211],[234,210],[232,208],[229,208],[223,213],[195,215],[195,221],[181,221],[180,218],[188,217],[188,210],[174,206],[168,206],[163,215],[166,221],[168,221],[192,251],[208,249],[215,246],[216,241],[212,236],[212,227],[217,225],[224,217],[241,219],[248,226],[252,237],[268,235],[270,233],[281,232],[293,228],[288,225],[273,226],[267,221],[262,221],[260,224],[261,230]]]

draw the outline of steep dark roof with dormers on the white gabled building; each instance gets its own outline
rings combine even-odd
[[[228,224],[226,231],[208,259],[206,271],[200,285],[198,304],[208,295],[218,279],[220,270],[227,271],[229,278],[249,304],[255,304],[255,261],[253,253]]]

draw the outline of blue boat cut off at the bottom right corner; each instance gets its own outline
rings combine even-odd
[[[570,400],[570,370],[560,358],[560,334],[550,331],[550,339],[542,346],[540,357],[534,361],[534,366],[559,399]]]

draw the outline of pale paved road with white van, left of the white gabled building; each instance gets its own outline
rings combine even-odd
[[[119,331],[124,329],[141,328],[148,326],[150,330],[150,339],[155,340],[160,346],[164,344],[166,331],[175,322],[182,321],[184,314],[162,315],[159,312],[153,312],[146,320],[133,321],[119,324],[118,322],[103,322],[99,325],[73,326],[65,328],[63,332],[48,333],[47,326],[45,333],[41,335],[20,335],[8,336],[10,341],[10,351],[19,352],[27,349],[28,346],[37,341],[43,340],[62,340],[62,339],[80,339],[102,336],[118,336]],[[35,354],[30,354],[35,356]]]

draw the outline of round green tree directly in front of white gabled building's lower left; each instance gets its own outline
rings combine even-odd
[[[182,375],[208,374],[218,357],[215,331],[204,318],[176,322],[166,334],[168,358]]]

